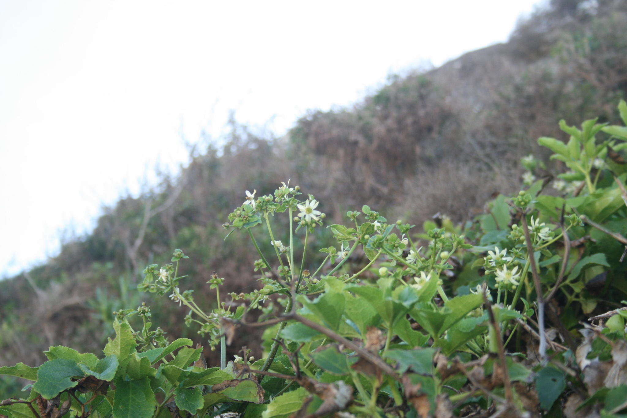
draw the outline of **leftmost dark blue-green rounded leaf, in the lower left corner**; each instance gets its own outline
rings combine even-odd
[[[43,363],[37,371],[37,381],[33,390],[45,399],[52,399],[63,390],[78,385],[78,381],[72,381],[73,377],[83,377],[83,370],[73,360],[55,358]]]

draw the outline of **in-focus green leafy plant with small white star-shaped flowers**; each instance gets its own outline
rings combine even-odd
[[[619,110],[627,124],[627,105]],[[219,350],[219,367],[206,367],[201,345],[153,330],[142,305],[116,312],[102,358],[58,346],[40,367],[0,367],[34,381],[0,414],[618,416],[627,408],[627,164],[617,140],[627,128],[561,126],[568,144],[539,140],[577,171],[553,180],[557,194],[534,179],[541,162],[525,157],[529,188],[496,197],[463,226],[441,217],[416,233],[369,206],[347,212],[349,225],[327,226],[337,244],[319,249],[320,264],[308,261],[325,221],[314,196],[302,199],[289,182],[273,195],[247,191],[224,227],[250,238],[260,289],[221,297],[228,279],[214,273],[207,291],[217,305],[206,310],[181,291],[180,249],[171,263],[147,266],[138,286],[184,305],[186,325]],[[270,254],[256,239],[265,233]],[[233,338],[259,327],[264,357],[243,348],[227,361]]]

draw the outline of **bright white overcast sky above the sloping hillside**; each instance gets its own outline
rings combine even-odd
[[[507,39],[539,0],[0,0],[0,276],[55,255],[229,110],[278,134]],[[271,121],[271,122],[268,122]]]

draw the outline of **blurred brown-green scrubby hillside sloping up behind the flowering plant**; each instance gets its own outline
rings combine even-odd
[[[189,288],[207,290],[194,295],[201,306],[215,303],[205,285],[213,271],[228,291],[258,286],[247,236],[223,241],[221,226],[246,189],[260,196],[291,178],[322,202],[330,223],[362,204],[413,224],[437,212],[467,221],[490,197],[517,191],[520,157],[544,152],[540,136],[564,137],[557,120],[615,120],[625,93],[627,2],[552,0],[507,43],[393,76],[354,107],[308,112],[285,137],[233,121],[223,147],[191,148],[180,175],[121,197],[92,233],[0,281],[0,365],[38,365],[50,345],[96,352],[112,331],[112,312],[142,301],[169,335],[201,341],[183,326],[185,310],[135,286],[146,264],[169,262],[174,248],[190,256]],[[234,342],[231,354],[246,344],[258,356],[257,337]],[[0,398],[19,387],[0,380]]]

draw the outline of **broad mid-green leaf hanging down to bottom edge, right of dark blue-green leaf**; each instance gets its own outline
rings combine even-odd
[[[156,406],[149,379],[115,379],[114,418],[150,418]]]

